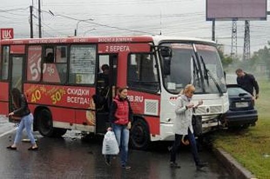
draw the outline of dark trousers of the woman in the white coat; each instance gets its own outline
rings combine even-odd
[[[176,161],[176,153],[177,153],[178,147],[181,144],[182,136],[183,135],[175,134],[175,141],[174,141],[173,148],[171,150],[171,162],[175,163],[175,161]],[[199,160],[199,154],[198,154],[198,150],[197,150],[196,140],[195,140],[194,134],[191,133],[190,129],[188,131],[188,139],[190,141],[191,152],[193,155],[194,162],[196,165],[198,165],[200,163],[200,160]]]

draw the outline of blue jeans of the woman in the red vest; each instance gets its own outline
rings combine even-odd
[[[124,167],[128,161],[130,132],[126,125],[113,124],[112,127],[120,149],[121,166]],[[110,161],[110,155],[106,155],[105,157]]]

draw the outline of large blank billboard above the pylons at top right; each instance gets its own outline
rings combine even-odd
[[[206,0],[206,20],[266,20],[267,0]]]

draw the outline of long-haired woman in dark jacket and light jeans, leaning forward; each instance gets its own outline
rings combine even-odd
[[[17,88],[13,88],[11,91],[11,94],[12,94],[13,104],[14,104],[16,110],[14,110],[10,114],[8,114],[8,117],[12,117],[14,115],[16,117],[20,117],[21,120],[19,123],[19,127],[17,129],[14,143],[12,145],[8,146],[7,148],[11,149],[11,150],[17,149],[17,144],[19,143],[20,138],[22,137],[22,132],[25,128],[27,135],[28,135],[28,137],[31,141],[31,144],[32,144],[28,150],[37,150],[38,147],[37,147],[35,139],[33,137],[32,128],[31,128],[31,126],[33,124],[33,115],[31,114],[31,112],[28,108],[27,100],[26,100],[24,94],[20,93],[19,89],[17,89]]]

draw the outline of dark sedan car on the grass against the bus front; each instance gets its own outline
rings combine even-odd
[[[230,106],[222,121],[223,124],[229,128],[254,126],[258,114],[254,108],[253,96],[237,84],[227,84],[227,89]]]

